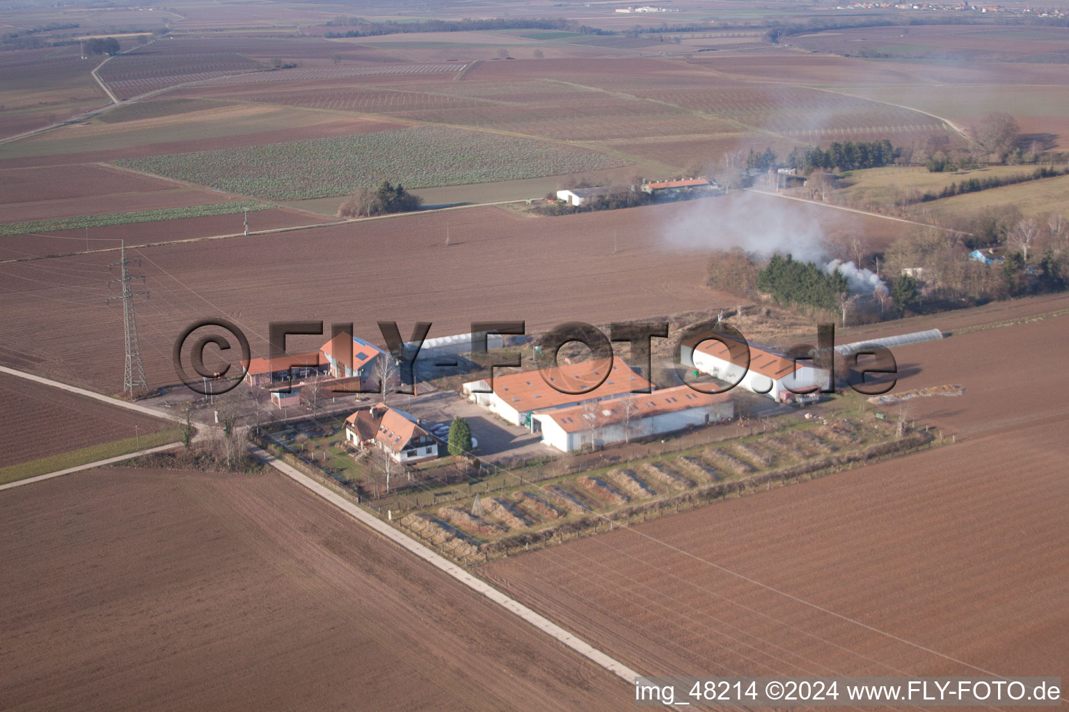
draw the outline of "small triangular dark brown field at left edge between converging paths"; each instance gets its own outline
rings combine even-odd
[[[0,468],[143,436],[171,425],[159,417],[7,374],[0,374]]]

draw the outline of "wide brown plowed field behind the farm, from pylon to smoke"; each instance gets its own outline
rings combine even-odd
[[[479,207],[130,252],[144,260],[139,273],[152,292],[137,307],[149,381],[176,382],[173,341],[186,325],[208,316],[235,320],[259,354],[272,320],[353,321],[357,333],[378,339],[379,319],[396,319],[402,331],[431,321],[431,336],[466,333],[477,320],[524,319],[527,333],[538,334],[564,321],[664,318],[734,305],[733,297],[703,286],[703,255],[724,243],[717,219],[732,205],[781,209],[784,224],[826,219],[834,225],[854,218],[734,194],[558,218]],[[664,226],[684,216],[690,239],[667,241]],[[900,230],[901,223],[872,220]],[[755,218],[737,230],[760,222]],[[143,237],[154,224],[127,227],[140,228],[134,234]],[[42,359],[38,368],[65,382],[118,390],[109,364],[122,362],[122,313],[104,303],[107,264],[115,257],[99,253],[0,267],[10,347]],[[323,341],[309,337],[307,347]]]

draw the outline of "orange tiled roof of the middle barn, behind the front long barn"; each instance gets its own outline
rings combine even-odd
[[[619,359],[613,361],[613,366],[606,376],[608,363],[607,359],[598,359],[556,368],[495,376],[494,393],[509,406],[524,413],[650,387],[649,381]],[[603,377],[605,380],[602,384],[590,393],[574,395],[561,393],[554,387],[559,385],[570,391],[578,391],[593,385]]]

